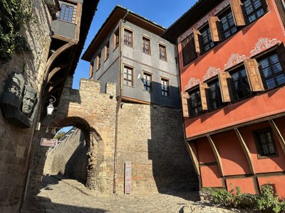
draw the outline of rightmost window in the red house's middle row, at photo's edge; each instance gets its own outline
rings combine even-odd
[[[266,58],[261,58],[258,62],[264,89],[285,84],[285,75],[276,52],[267,55]]]

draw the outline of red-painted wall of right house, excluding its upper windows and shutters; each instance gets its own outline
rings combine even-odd
[[[185,139],[196,165],[200,187],[224,187],[231,190],[239,186],[242,192],[254,194],[260,192],[261,185],[270,183],[279,197],[284,197],[285,187],[282,182],[285,180],[285,82],[271,89],[264,86],[264,91],[252,92],[241,100],[224,102],[224,105],[217,109],[204,109],[198,114],[190,114],[193,103],[203,102],[199,84],[206,83],[209,86],[212,80],[217,79],[219,72],[228,72],[231,75],[243,65],[246,70],[249,69],[247,62],[244,62],[246,59],[257,60],[258,70],[261,72],[261,59],[276,53],[282,67],[281,75],[284,74],[285,58],[278,52],[279,47],[285,43],[284,24],[280,15],[282,11],[274,0],[260,2],[266,4],[262,16],[252,23],[238,26],[236,33],[215,42],[214,47],[205,53],[200,54],[195,43],[197,58],[187,65],[183,62],[183,40],[195,30],[202,31],[202,28],[209,24],[208,17],[219,17],[229,9],[232,1],[220,1],[212,11],[205,12],[199,17],[199,21],[176,38],[181,90],[189,94],[186,102],[182,100],[182,104],[186,106],[187,103],[188,107],[184,111],[189,110],[189,115],[185,116]],[[198,6],[195,6],[196,10]],[[192,10],[193,14],[195,9]],[[190,13],[185,16],[190,16]],[[179,26],[180,21],[183,21],[183,17],[175,24]],[[171,30],[175,31],[175,25]],[[252,71],[249,71],[247,70],[247,75],[251,75]],[[253,84],[252,82],[252,90]],[[192,101],[192,92],[199,88],[202,100]],[[224,94],[222,89],[221,94]],[[207,99],[208,106],[209,102]]]

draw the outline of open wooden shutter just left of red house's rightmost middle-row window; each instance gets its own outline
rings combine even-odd
[[[264,86],[261,80],[258,63],[255,59],[245,59],[244,67],[247,71],[249,85],[253,92],[264,91]]]

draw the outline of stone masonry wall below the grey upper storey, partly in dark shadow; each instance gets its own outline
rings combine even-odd
[[[123,103],[119,113],[118,193],[124,192],[125,161],[132,165],[132,194],[197,189],[180,109]]]

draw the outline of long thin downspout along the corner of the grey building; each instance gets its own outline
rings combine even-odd
[[[119,94],[118,94],[118,101],[117,101],[117,106],[116,106],[116,115],[115,115],[115,148],[114,148],[114,177],[113,177],[113,193],[115,194],[116,192],[116,180],[117,180],[117,147],[118,147],[118,116],[119,116],[119,110],[120,110],[120,104],[122,103],[122,93],[123,93],[123,73],[122,73],[122,20],[128,15],[129,10],[127,13],[125,13],[125,16],[120,19],[120,25],[119,25]]]

